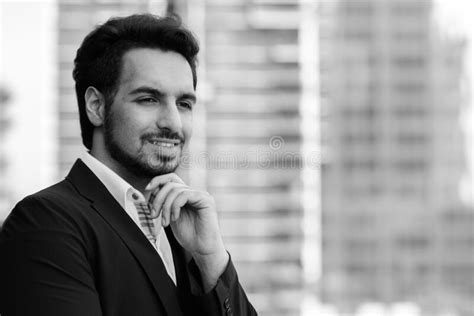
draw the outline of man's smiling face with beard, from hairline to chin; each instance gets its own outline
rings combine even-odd
[[[173,172],[192,134],[195,101],[191,67],[183,56],[150,48],[125,53],[104,122],[112,163],[139,178]]]

